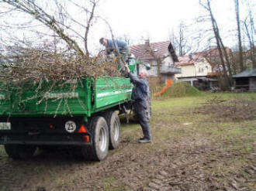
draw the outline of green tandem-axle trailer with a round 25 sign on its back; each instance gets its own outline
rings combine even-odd
[[[130,61],[133,73],[137,64]],[[84,159],[100,161],[119,145],[118,114],[131,107],[130,78],[1,84],[7,85],[0,92],[0,144],[12,159],[30,157],[37,147],[67,145]]]

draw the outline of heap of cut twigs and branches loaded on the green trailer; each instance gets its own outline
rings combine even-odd
[[[68,50],[26,49],[9,47],[0,63],[0,81],[71,80],[81,77],[119,76],[116,63],[104,56],[88,57]]]

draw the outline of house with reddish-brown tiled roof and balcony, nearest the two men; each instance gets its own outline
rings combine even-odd
[[[150,43],[147,39],[144,44],[130,46],[130,52],[137,60],[141,60],[140,70],[145,69],[145,63],[150,63],[151,68],[147,71],[149,77],[157,77],[157,59],[161,59],[159,73],[162,83],[168,79],[174,79],[175,73],[181,72],[175,67],[178,57],[170,41]]]

